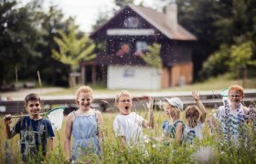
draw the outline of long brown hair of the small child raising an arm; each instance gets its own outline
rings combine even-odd
[[[188,126],[195,128],[200,118],[200,112],[197,106],[188,106],[186,108],[185,118],[188,120]]]

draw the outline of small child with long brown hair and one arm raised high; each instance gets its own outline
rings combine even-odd
[[[188,106],[186,108],[186,128],[184,130],[184,141],[192,143],[195,138],[203,138],[202,128],[207,116],[207,110],[200,101],[197,91],[192,91],[192,97],[195,99],[197,106]]]

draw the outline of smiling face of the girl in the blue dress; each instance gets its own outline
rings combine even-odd
[[[81,109],[91,108],[92,97],[91,93],[81,92],[77,97],[77,103]]]

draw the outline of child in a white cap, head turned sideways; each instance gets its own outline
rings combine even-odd
[[[183,109],[183,102],[178,97],[165,98],[164,110],[169,117],[163,123],[164,138],[175,139],[177,143],[182,143],[182,134],[185,128],[180,120],[180,112]]]

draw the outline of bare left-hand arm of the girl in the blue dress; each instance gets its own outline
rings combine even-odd
[[[71,132],[72,132],[73,117],[74,116],[72,115],[72,113],[69,113],[69,116],[67,117],[66,129],[65,129],[64,147],[66,152],[66,160],[68,162],[71,161],[70,138],[71,138]]]

